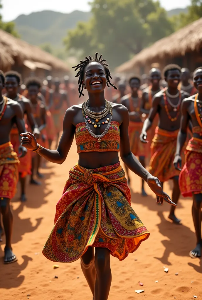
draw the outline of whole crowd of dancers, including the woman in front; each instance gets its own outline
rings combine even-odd
[[[111,285],[110,254],[122,260],[149,236],[130,206],[129,169],[142,178],[142,196],[146,182],[157,203],[172,204],[174,223],[181,224],[175,215],[180,193],[193,198],[197,245],[189,255],[201,256],[202,67],[193,78],[170,64],[162,72],[152,68],[143,79],[132,76],[128,84],[120,76],[112,83],[108,64],[96,53],[75,70],[79,97],[88,93],[84,104],[78,104],[68,76],[63,83],[48,76],[45,85],[30,77],[22,85],[19,73],[0,72],[0,239],[5,233],[4,263],[15,262],[10,200],[18,179],[24,202],[27,176],[29,184],[39,185],[41,158],[63,163],[75,136],[79,161],[70,170],[43,254],[57,262],[81,258],[93,297],[101,300]],[[169,179],[172,201],[163,192]]]

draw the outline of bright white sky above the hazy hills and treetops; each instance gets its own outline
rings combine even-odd
[[[22,13],[29,14],[40,10],[56,10],[63,13],[76,9],[88,11],[90,9],[88,2],[89,0],[3,0],[1,13],[4,21],[11,21]],[[190,0],[160,0],[160,2],[167,10],[190,4]]]

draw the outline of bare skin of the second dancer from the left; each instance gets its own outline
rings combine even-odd
[[[6,96],[14,101],[17,101],[22,109],[23,113],[27,115],[27,120],[29,122],[30,127],[32,128],[32,132],[36,137],[39,136],[40,132],[38,130],[38,125],[35,122],[34,116],[32,114],[32,104],[29,99],[25,97],[19,99],[18,90],[20,88],[20,84],[18,83],[15,76],[6,76],[5,78],[5,88],[6,88]],[[21,174],[19,174],[20,185],[21,185],[21,201],[26,201],[25,195],[25,187],[26,187],[26,176],[22,178]]]

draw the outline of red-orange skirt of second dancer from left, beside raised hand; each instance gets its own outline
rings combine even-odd
[[[25,124],[26,130],[27,130],[27,124]],[[20,146],[20,140],[19,140],[19,132],[17,128],[12,128],[10,133],[10,140],[11,144],[13,145],[14,151],[18,153],[18,148]],[[27,175],[31,174],[31,167],[32,167],[32,154],[31,151],[27,151],[27,154],[24,157],[19,157],[19,167],[18,172],[21,173],[21,177],[24,178]]]

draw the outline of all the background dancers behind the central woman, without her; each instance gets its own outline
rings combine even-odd
[[[148,76],[135,75],[128,80],[115,76],[118,91],[107,88],[108,101],[122,104],[129,112],[130,149],[143,167],[163,185],[173,180],[172,201],[180,192],[192,196],[192,216],[197,246],[191,257],[201,256],[202,220],[202,67],[193,72],[170,64],[161,72],[152,68]],[[147,82],[145,82],[145,78]],[[78,103],[78,92],[69,76],[63,82],[47,76],[45,85],[36,77],[22,86],[19,73],[0,72],[0,240],[5,232],[4,263],[17,260],[12,252],[12,212],[10,200],[19,179],[21,201],[26,201],[27,176],[39,185],[41,156],[21,146],[20,134],[32,132],[44,148],[57,148],[63,117],[68,107]],[[149,162],[149,163],[148,163]],[[130,175],[127,166],[127,182]],[[147,196],[142,179],[142,196]],[[169,218],[181,223],[171,206]],[[4,227],[4,230],[3,230]]]

